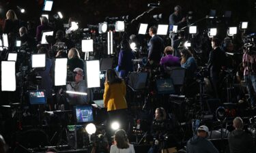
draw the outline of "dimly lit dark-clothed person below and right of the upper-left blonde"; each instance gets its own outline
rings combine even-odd
[[[27,33],[27,28],[21,27],[19,29],[19,33],[20,33],[21,46],[28,48],[30,52],[35,50],[36,49],[35,39]]]

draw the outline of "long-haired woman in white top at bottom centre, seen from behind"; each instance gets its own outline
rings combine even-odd
[[[123,129],[115,131],[114,144],[110,148],[110,153],[135,153],[134,147],[129,143],[126,131]]]

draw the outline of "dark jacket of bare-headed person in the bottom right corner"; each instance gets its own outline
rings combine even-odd
[[[253,137],[243,130],[234,130],[229,133],[230,153],[256,152]]]

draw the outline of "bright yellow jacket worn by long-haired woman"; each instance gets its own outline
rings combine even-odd
[[[124,81],[122,81],[122,83],[120,84],[109,84],[108,82],[105,82],[105,89],[103,95],[104,107],[107,108],[107,111],[127,108],[125,95],[126,84],[124,83]]]

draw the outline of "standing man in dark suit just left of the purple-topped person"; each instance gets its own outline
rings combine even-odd
[[[156,35],[156,31],[156,27],[150,27],[149,34],[152,38],[148,44],[149,52],[147,56],[150,65],[158,65],[160,63],[162,52],[164,51],[164,41],[161,37]]]

